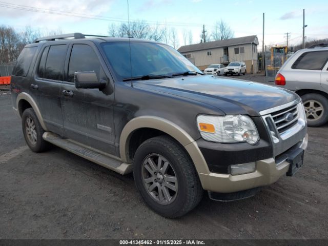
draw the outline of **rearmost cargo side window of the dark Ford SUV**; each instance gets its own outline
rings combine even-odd
[[[37,47],[26,47],[23,49],[23,51],[17,58],[17,63],[12,72],[12,75],[26,77],[30,69],[36,49]]]

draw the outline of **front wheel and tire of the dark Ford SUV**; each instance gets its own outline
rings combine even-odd
[[[155,164],[154,168],[150,163]],[[134,156],[133,176],[148,207],[164,217],[177,218],[187,214],[197,206],[203,194],[192,160],[169,136],[153,137],[139,146]],[[172,181],[168,181],[169,178]]]

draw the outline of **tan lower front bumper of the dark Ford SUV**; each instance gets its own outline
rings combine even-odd
[[[308,146],[308,134],[300,142],[299,147],[303,150]],[[231,193],[249,190],[256,187],[268,186],[277,181],[289,170],[290,163],[286,160],[276,163],[275,158],[258,160],[256,171],[253,173],[231,175],[219,173],[198,173],[204,190],[218,193]]]

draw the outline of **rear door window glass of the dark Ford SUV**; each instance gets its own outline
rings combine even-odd
[[[45,78],[63,80],[63,69],[66,57],[66,45],[52,45],[49,48]]]

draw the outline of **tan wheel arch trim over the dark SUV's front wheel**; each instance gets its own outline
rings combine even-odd
[[[167,133],[180,145],[185,147],[194,162],[198,173],[210,174],[207,163],[200,152],[195,140],[181,127],[173,122],[156,116],[139,116],[130,120],[123,128],[119,139],[119,153],[122,161],[131,162],[128,160],[129,142],[132,133],[140,128],[152,128]]]

